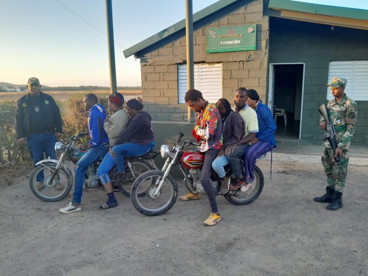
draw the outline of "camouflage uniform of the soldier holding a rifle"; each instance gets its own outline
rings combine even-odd
[[[345,94],[339,101],[336,101],[336,98],[330,100],[327,103],[327,109],[331,123],[335,127],[337,146],[342,149],[342,155],[339,166],[335,162],[335,155],[331,145],[326,140],[323,143],[322,165],[327,175],[327,186],[338,192],[343,192],[349,163],[350,140],[355,132],[358,105]],[[321,117],[321,121],[323,120],[324,118]]]

